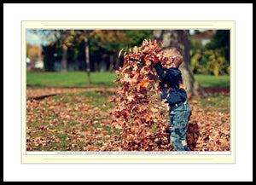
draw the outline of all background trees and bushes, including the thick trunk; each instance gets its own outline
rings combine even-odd
[[[54,71],[55,61],[61,61],[61,72],[76,63],[77,71],[87,72],[90,84],[90,71],[98,72],[105,66],[113,72],[122,66],[120,49],[141,46],[144,39],[162,41],[164,48],[176,47],[183,55],[180,67],[185,86],[190,95],[206,95],[194,78],[194,73],[230,74],[230,31],[218,30],[212,40],[203,45],[189,35],[189,30],[36,30],[49,39],[43,46],[44,70]],[[196,34],[204,32],[196,31]],[[28,52],[30,53],[30,52]],[[79,62],[78,62],[79,61]],[[79,65],[78,65],[79,63]]]

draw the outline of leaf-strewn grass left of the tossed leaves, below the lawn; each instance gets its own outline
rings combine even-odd
[[[99,91],[96,95],[103,93],[105,97],[106,93],[112,94]],[[100,106],[98,103],[95,95],[88,97],[83,93],[27,100],[26,149],[102,151],[119,146],[119,131],[109,124],[109,107],[104,102]]]

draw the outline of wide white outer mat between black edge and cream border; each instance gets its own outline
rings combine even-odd
[[[22,164],[23,20],[235,21],[236,164]],[[252,182],[253,3],[3,3],[3,97],[4,182]]]

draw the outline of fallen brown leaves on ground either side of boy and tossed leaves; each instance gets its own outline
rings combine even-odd
[[[41,89],[40,89],[41,90]],[[44,89],[42,89],[44,90]],[[112,92],[73,93],[26,101],[27,151],[121,151],[123,137],[111,124],[109,112]],[[105,97],[105,99],[101,99]],[[99,102],[100,101],[100,102]],[[100,103],[100,104],[99,104]],[[192,116],[187,142],[192,151],[230,151],[230,112],[201,108],[200,101],[189,100]],[[155,110],[152,109],[154,113]],[[167,119],[167,113],[163,113]],[[151,117],[145,116],[146,122]],[[137,130],[139,131],[139,130]],[[127,142],[129,138],[126,139]],[[156,139],[157,140],[157,139]],[[143,142],[149,142],[145,139]],[[158,141],[155,141],[158,142]],[[173,151],[168,143],[164,151]]]

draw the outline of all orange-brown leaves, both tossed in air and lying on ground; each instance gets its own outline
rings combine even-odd
[[[166,132],[169,110],[160,101],[153,66],[158,61],[162,66],[172,63],[161,47],[145,40],[142,47],[125,52],[124,66],[116,71],[119,87],[108,91],[27,87],[26,150],[173,151]],[[189,150],[230,151],[229,88],[225,92],[209,89],[214,95],[188,100],[192,110],[186,133]]]

